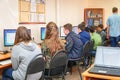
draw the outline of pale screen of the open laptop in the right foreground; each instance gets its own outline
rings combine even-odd
[[[95,56],[95,65],[104,67],[120,67],[120,48],[98,46]]]

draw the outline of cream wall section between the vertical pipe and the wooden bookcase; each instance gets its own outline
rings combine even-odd
[[[88,0],[58,0],[59,1],[59,24],[63,26],[71,23],[77,26],[84,20],[84,8]]]

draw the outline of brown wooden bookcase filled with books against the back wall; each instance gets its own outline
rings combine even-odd
[[[104,11],[103,8],[85,8],[84,22],[87,27],[104,25]]]

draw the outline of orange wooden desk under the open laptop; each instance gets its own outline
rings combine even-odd
[[[98,79],[120,80],[120,77],[117,77],[117,76],[108,76],[108,75],[89,73],[88,71],[92,67],[93,67],[93,65],[90,68],[88,68],[85,72],[82,73],[83,80],[98,80]]]

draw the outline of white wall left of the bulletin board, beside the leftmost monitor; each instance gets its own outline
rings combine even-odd
[[[3,29],[18,27],[17,0],[0,0],[0,50],[3,50]]]

